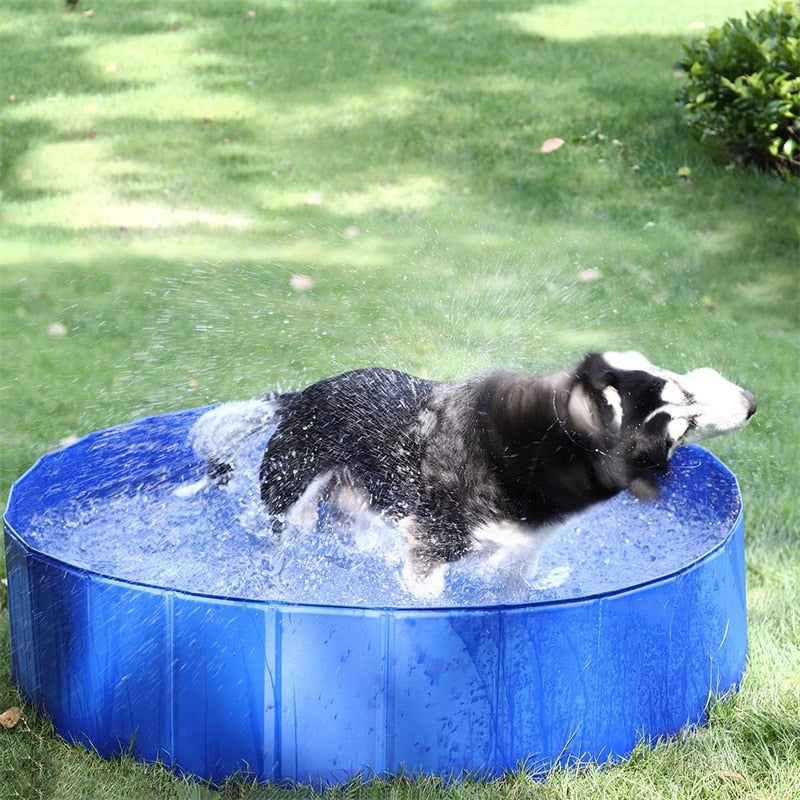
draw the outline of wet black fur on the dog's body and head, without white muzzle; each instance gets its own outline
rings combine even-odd
[[[607,386],[621,398],[621,428]],[[347,372],[275,398],[261,497],[280,515],[327,475],[323,496],[346,485],[404,520],[424,571],[464,555],[486,523],[535,526],[622,489],[657,494],[670,418],[644,420],[663,387],[648,372],[613,370],[601,354],[538,377],[497,372],[441,383],[389,369]]]

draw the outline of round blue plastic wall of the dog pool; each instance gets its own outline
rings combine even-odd
[[[36,549],[31,520],[50,506],[196,475],[186,433],[198,413],[92,434],[12,488],[13,676],[68,740],[215,781],[496,775],[623,758],[702,722],[709,697],[741,678],[741,499],[701,448],[686,448],[680,491],[695,514],[730,520],[728,534],[678,571],[584,598],[303,605],[145,585]]]

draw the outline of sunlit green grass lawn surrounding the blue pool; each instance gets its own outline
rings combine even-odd
[[[798,185],[729,168],[674,104],[681,43],[748,7],[4,0],[0,501],[66,437],[355,366],[712,365],[759,399],[709,445],[745,500],[741,691],[614,769],[329,796],[797,796]],[[0,587],[0,711],[24,705],[7,607]],[[26,709],[0,795],[309,792],[106,762]]]

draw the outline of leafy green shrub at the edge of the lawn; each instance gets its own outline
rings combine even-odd
[[[800,3],[729,19],[684,45],[689,125],[739,162],[800,170]]]

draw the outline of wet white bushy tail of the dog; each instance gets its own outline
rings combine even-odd
[[[206,474],[199,481],[179,486],[174,493],[191,497],[210,485],[225,486],[241,456],[275,424],[290,395],[269,394],[255,400],[222,403],[206,411],[189,431],[192,448],[207,464]]]

